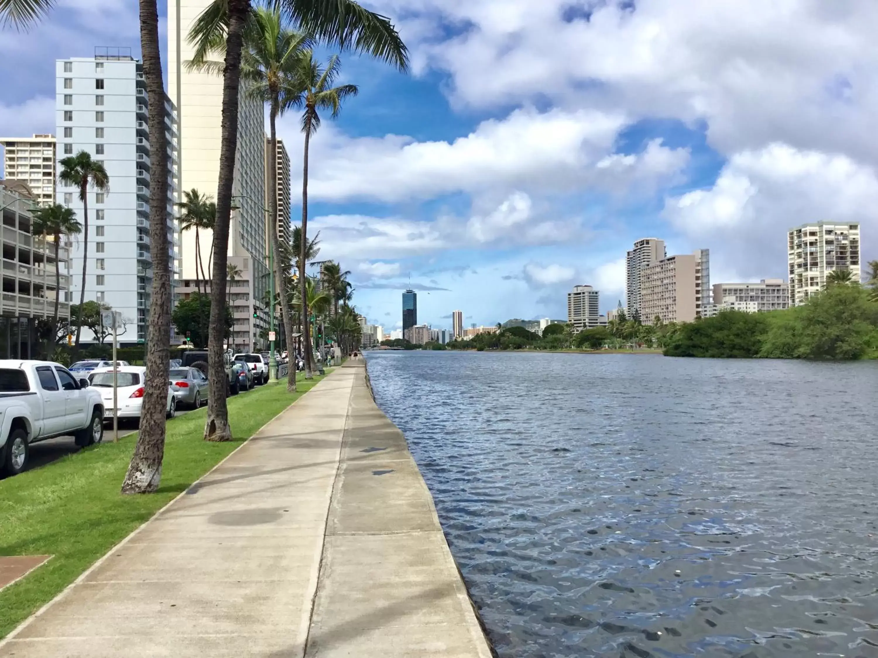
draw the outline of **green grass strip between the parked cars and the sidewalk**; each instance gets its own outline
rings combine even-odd
[[[229,397],[233,441],[202,440],[205,409],[169,421],[162,486],[155,494],[119,494],[134,434],[0,481],[0,555],[54,555],[0,591],[0,638],[322,379],[299,377],[293,396],[283,384],[270,384]]]

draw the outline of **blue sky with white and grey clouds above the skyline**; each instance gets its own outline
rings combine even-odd
[[[607,311],[644,237],[709,248],[713,283],[786,277],[786,231],[807,221],[859,221],[878,258],[878,3],[363,4],[412,67],[342,53],[360,93],[313,137],[309,234],[385,331],[408,287],[435,328],[456,309],[565,318],[576,284]],[[94,46],[139,54],[133,0],[59,0],[0,32],[0,133],[54,132],[54,60]],[[300,218],[298,118],[278,132]]]

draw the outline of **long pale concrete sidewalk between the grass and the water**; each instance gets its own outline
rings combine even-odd
[[[432,498],[364,369],[336,369],[0,656],[488,658]]]

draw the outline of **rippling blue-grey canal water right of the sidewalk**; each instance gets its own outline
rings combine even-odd
[[[878,656],[878,362],[367,358],[500,656]]]

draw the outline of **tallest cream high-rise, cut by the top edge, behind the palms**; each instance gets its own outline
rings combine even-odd
[[[187,70],[194,48],[187,39],[193,22],[211,0],[168,0],[168,93],[176,104],[180,122],[180,190],[198,190],[216,197],[219,184],[219,149],[222,141],[222,75]],[[263,104],[248,97],[241,88],[238,103],[238,146],[232,186],[232,221],[229,226],[228,251],[234,259],[248,259],[248,277],[255,298],[241,300],[242,305],[263,309],[265,290],[269,288],[268,250],[266,249],[265,200],[265,121]],[[181,192],[182,194],[182,192]],[[212,232],[200,231],[201,258],[210,260]],[[182,236],[184,258],[180,263],[184,284],[193,287],[198,278],[195,259],[195,232]],[[210,273],[205,273],[208,278]],[[241,294],[245,294],[241,292]],[[240,320],[253,320],[249,318]],[[262,311],[250,322],[249,335],[261,332]],[[241,327],[241,332],[243,327]]]

